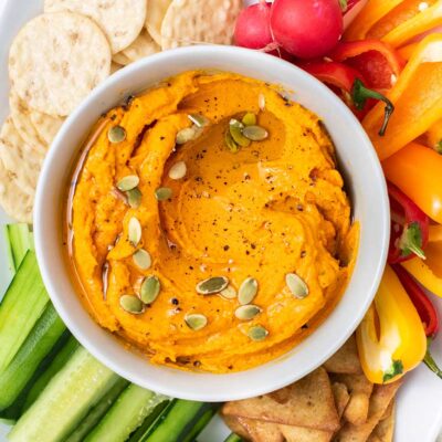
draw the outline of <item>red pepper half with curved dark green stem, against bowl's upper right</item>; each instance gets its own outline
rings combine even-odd
[[[373,101],[385,102],[385,118],[382,127],[379,130],[380,135],[385,134],[394,106],[379,92],[366,87],[364,75],[360,72],[338,62],[312,62],[298,65],[311,75],[330,86],[358,118],[364,118],[365,114],[376,103]]]

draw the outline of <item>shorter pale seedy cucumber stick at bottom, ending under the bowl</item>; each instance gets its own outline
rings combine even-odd
[[[130,383],[85,442],[124,442],[166,396]]]

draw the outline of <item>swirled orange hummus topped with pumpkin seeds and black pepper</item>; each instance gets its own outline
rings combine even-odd
[[[243,370],[293,348],[357,246],[319,118],[269,84],[186,72],[98,122],[67,207],[91,315],[152,362]]]

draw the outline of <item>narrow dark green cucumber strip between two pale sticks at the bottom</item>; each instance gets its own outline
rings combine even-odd
[[[129,381],[119,378],[114,387],[103,397],[103,399],[88,412],[81,424],[64,442],[82,442],[85,436],[98,424],[109,408],[118,399],[119,394],[127,388]]]

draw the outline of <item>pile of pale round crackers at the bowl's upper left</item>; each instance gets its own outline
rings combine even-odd
[[[9,54],[0,206],[32,222],[38,178],[66,116],[112,73],[161,50],[231,44],[242,0],[45,0]]]

